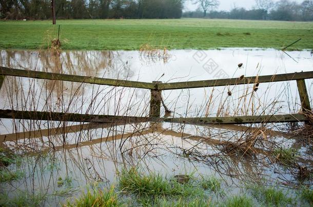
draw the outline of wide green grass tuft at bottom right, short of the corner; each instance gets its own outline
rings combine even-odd
[[[266,203],[267,205],[285,206],[292,204],[292,199],[288,197],[282,190],[274,187],[264,188],[263,186],[256,185],[250,188],[252,195],[259,201]]]

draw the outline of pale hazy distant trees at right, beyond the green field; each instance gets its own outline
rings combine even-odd
[[[233,8],[230,11],[216,11],[217,0],[196,0],[199,5],[197,11],[183,13],[183,17],[194,18],[222,18],[222,19],[255,19],[255,20],[284,20],[284,21],[312,21],[313,0],[303,1],[301,4],[289,0],[274,3],[271,0],[256,0],[254,8]]]

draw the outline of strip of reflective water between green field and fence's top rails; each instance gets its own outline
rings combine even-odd
[[[272,75],[311,71],[313,57],[309,51],[277,50],[172,50],[170,61],[154,58],[139,51],[63,51],[60,55],[43,51],[2,50],[2,66],[72,75],[96,76],[152,82],[207,80],[225,77]],[[153,56],[154,57],[154,56]],[[158,57],[158,56],[157,56]],[[238,63],[243,67],[238,69]],[[237,70],[238,69],[238,70]]]

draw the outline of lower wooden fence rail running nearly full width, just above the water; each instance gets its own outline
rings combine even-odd
[[[134,122],[173,122],[185,124],[257,124],[257,123],[280,123],[280,122],[305,122],[304,114],[285,115],[262,115],[242,117],[199,117],[199,118],[149,118],[149,117],[124,117],[96,114],[79,114],[45,111],[18,111],[1,110],[0,118],[26,119],[47,121],[68,121],[88,123],[134,123]]]

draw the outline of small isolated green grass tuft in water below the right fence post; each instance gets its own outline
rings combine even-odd
[[[290,165],[294,163],[299,157],[298,150],[293,148],[278,148],[273,150],[272,153],[276,157],[276,159],[283,165]]]

